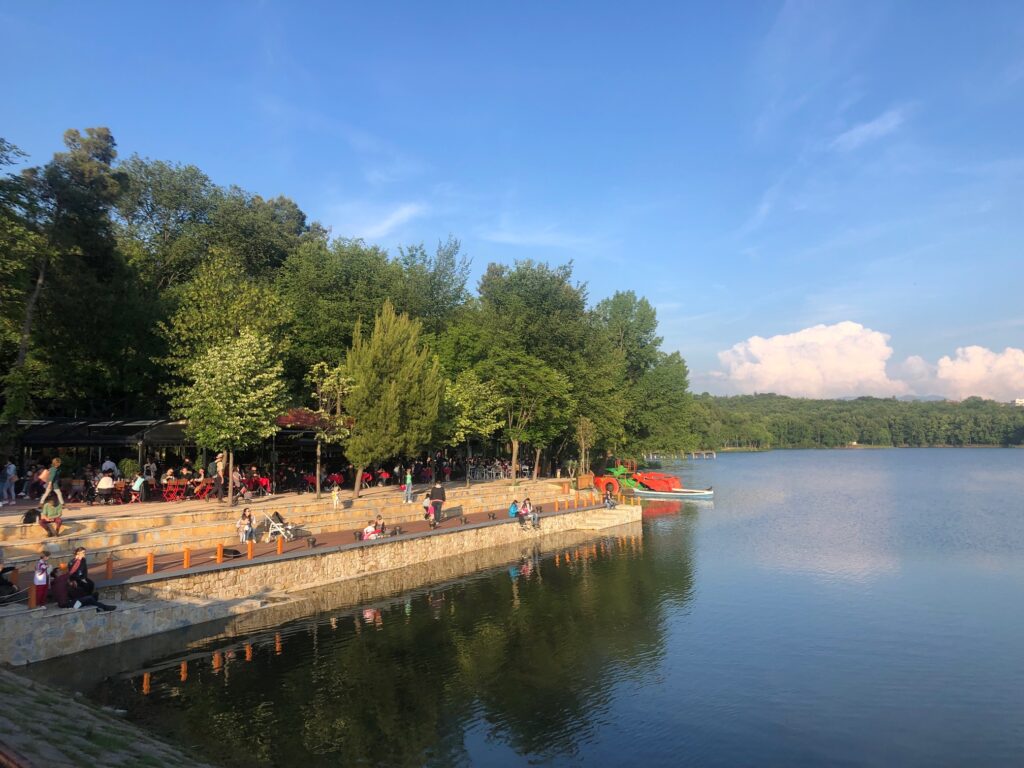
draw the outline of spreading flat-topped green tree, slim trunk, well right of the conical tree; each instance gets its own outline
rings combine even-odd
[[[561,423],[571,407],[568,379],[528,354],[501,350],[476,368],[477,375],[498,391],[505,435],[512,443],[512,480],[519,474],[519,443],[530,434]]]

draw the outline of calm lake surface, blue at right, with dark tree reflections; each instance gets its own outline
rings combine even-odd
[[[88,693],[238,766],[1024,765],[1024,451],[675,471],[714,504]]]

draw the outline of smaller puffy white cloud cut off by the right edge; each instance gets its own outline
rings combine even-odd
[[[1024,349],[993,352],[980,346],[959,347],[953,357],[939,358],[935,377],[941,394],[952,399],[1024,397]]]

